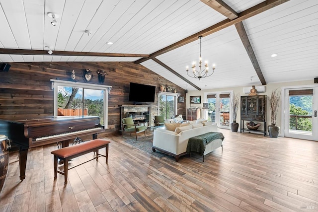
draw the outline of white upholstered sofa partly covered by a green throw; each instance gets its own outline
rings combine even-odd
[[[184,130],[178,134],[158,128],[154,131],[153,151],[157,149],[160,152],[174,156],[175,161],[178,161],[181,155],[187,154],[187,145],[190,138],[209,132],[218,132],[217,124]],[[222,146],[222,139],[210,142],[206,145],[203,156],[220,146]]]

